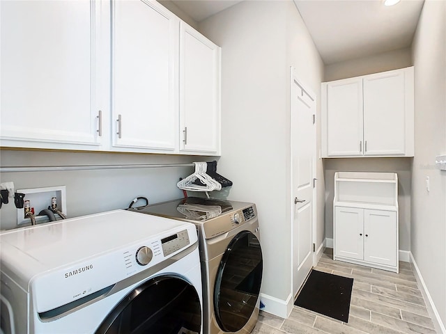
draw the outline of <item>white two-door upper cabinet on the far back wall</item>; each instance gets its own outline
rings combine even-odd
[[[413,157],[413,96],[413,67],[323,83],[323,157]]]

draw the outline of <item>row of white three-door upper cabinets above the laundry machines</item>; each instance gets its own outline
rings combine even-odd
[[[1,3],[0,145],[221,154],[220,47],[156,1],[74,2]]]

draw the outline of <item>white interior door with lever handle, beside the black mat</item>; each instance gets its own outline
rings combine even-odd
[[[291,218],[293,296],[314,265],[316,101],[291,70]]]

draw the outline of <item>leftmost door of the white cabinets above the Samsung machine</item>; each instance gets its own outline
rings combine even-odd
[[[100,145],[100,5],[1,1],[1,145]]]

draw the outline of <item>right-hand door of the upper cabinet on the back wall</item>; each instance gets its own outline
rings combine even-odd
[[[364,77],[365,155],[405,154],[405,107],[403,71]]]

